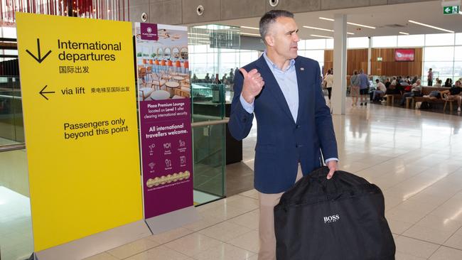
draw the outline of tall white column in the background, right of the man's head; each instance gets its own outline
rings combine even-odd
[[[346,99],[346,14],[335,14],[333,23],[332,114],[345,114]]]

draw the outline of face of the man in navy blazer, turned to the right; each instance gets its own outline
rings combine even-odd
[[[289,17],[276,18],[276,22],[269,27],[267,43],[275,50],[276,55],[291,60],[297,57],[299,43],[299,28],[295,20]]]

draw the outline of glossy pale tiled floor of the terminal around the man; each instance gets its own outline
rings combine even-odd
[[[462,118],[368,104],[333,116],[340,169],[382,188],[397,259],[462,259]],[[256,129],[245,139],[253,168]],[[257,259],[257,192],[198,207],[203,220],[91,260]]]

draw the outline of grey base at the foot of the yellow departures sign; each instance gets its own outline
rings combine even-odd
[[[120,247],[151,235],[143,220],[125,224],[114,229],[92,234],[57,247],[35,253],[35,260],[78,260]]]

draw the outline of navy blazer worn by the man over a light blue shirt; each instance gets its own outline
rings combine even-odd
[[[264,57],[244,68],[256,68],[262,75],[264,87],[254,99],[254,114],[249,114],[240,102],[244,77],[235,73],[234,97],[231,104],[231,135],[242,140],[257,118],[254,187],[261,193],[282,193],[295,183],[298,163],[303,175],[321,166],[324,158],[338,158],[331,111],[321,90],[321,72],[316,60],[295,59],[299,85],[297,121],[289,110],[284,94]]]

